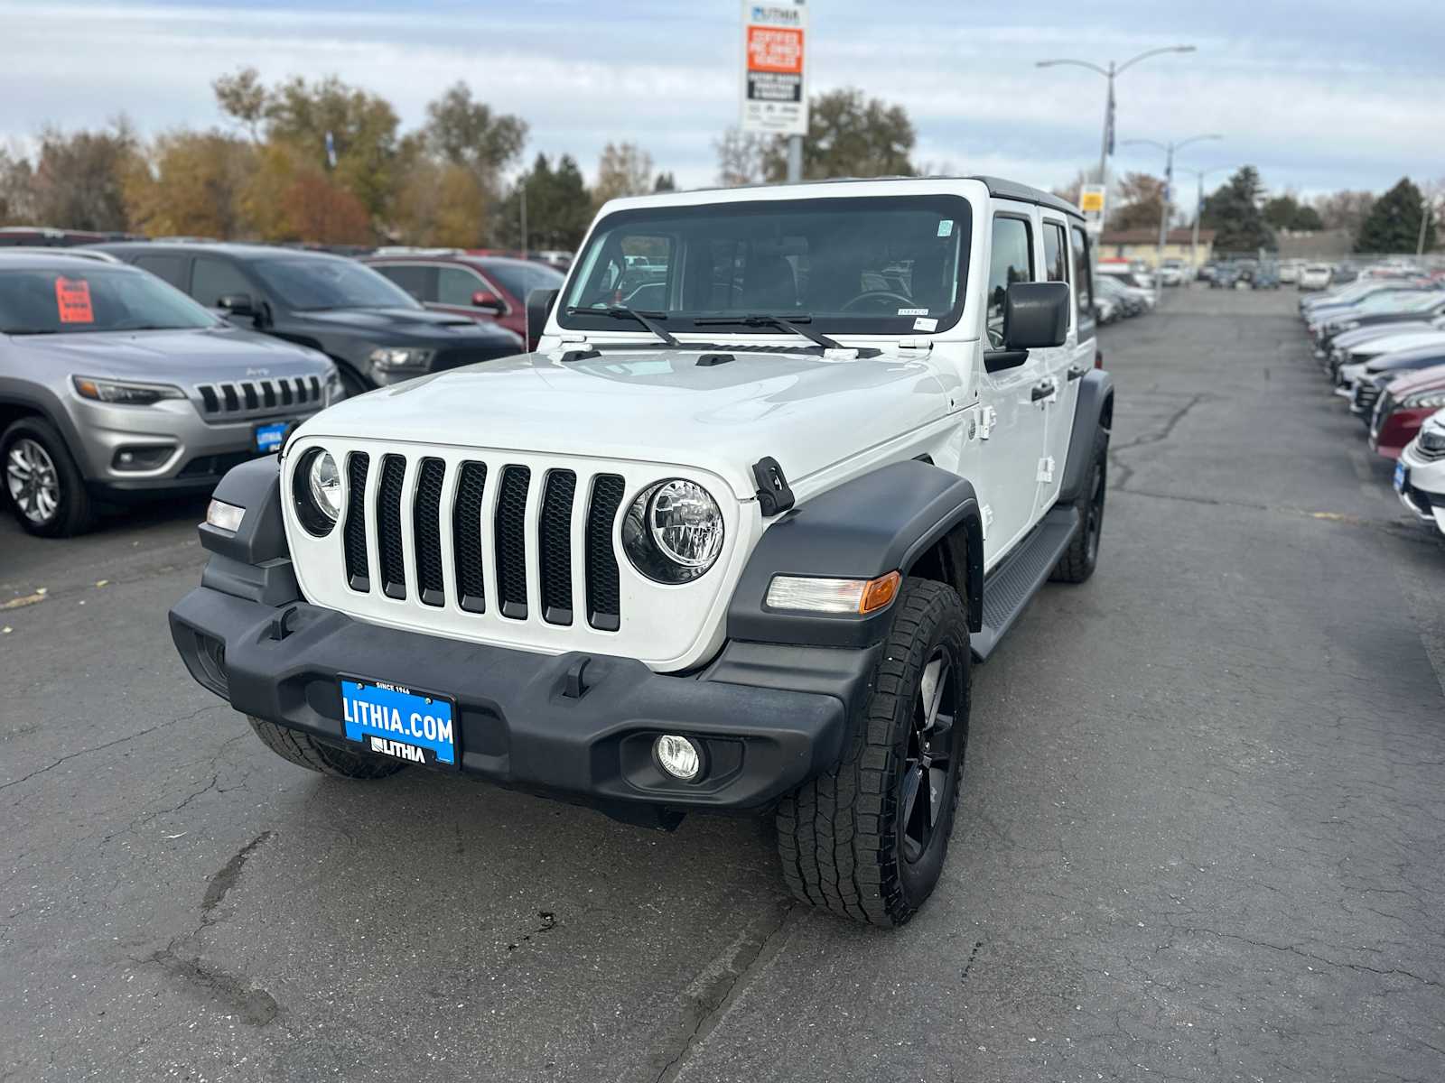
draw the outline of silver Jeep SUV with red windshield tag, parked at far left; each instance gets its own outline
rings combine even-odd
[[[324,354],[146,271],[0,254],[3,492],[32,534],[82,531],[97,501],[210,491],[332,397]]]

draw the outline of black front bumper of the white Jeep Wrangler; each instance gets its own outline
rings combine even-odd
[[[679,677],[631,658],[462,643],[212,586],[176,604],[171,632],[191,676],[237,710],[329,741],[345,742],[341,673],[451,696],[462,774],[614,814],[776,801],[837,762],[879,650],[730,641]],[[652,745],[665,732],[702,745],[699,781],[657,768]]]

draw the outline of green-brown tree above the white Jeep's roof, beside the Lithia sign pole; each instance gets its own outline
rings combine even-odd
[[[819,94],[808,108],[803,137],[803,180],[832,176],[913,176],[909,162],[916,134],[902,105],[866,98],[847,88]],[[788,139],[773,137],[763,152],[767,180],[788,176]]]

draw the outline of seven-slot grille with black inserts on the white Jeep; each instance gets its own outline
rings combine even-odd
[[[347,456],[348,507],[344,553],[347,583],[370,593],[368,539],[380,565],[381,593],[423,605],[447,605],[442,534],[449,534],[455,575],[455,605],[486,614],[488,605],[513,621],[540,619],[553,625],[574,621],[574,520],[585,524],[582,567],[587,622],[598,631],[621,627],[621,591],[613,529],[624,495],[617,474],[578,478],[572,469],[532,471],[517,464],[465,461],[448,466],[426,456],[407,485],[405,455],[381,456],[381,477],[367,507],[370,456]],[[493,494],[490,487],[496,485]],[[449,507],[448,507],[448,494]],[[536,501],[536,504],[533,504]],[[493,508],[487,516],[488,505]],[[529,507],[536,507],[529,533]],[[410,553],[410,557],[407,557]],[[410,559],[410,563],[407,560]],[[488,569],[497,596],[488,598]],[[535,585],[542,612],[527,606]]]

